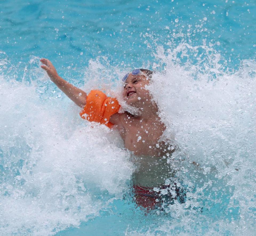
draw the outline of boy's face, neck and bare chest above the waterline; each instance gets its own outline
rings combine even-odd
[[[144,75],[130,74],[123,89],[123,98],[127,104],[138,108],[138,116],[129,113],[116,113],[110,122],[117,126],[125,147],[135,155],[158,155],[155,148],[158,140],[166,129],[158,116],[158,107],[152,101],[149,91],[145,88],[149,79]]]

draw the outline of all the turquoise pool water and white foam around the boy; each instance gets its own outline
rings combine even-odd
[[[1,1],[0,234],[253,235],[255,14],[255,1]],[[120,137],[79,118],[41,57],[85,91],[157,71],[185,203],[136,206]]]

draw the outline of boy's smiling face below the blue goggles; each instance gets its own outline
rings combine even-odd
[[[133,75],[130,73],[124,83],[123,98],[127,104],[139,107],[151,101],[149,90],[145,85],[149,84],[149,78],[145,75]]]

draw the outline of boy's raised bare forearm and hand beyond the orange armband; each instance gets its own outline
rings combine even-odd
[[[84,107],[86,105],[87,94],[83,90],[78,89],[65,79],[61,78],[53,64],[48,59],[42,58],[40,61],[43,63],[41,67],[47,72],[51,81],[53,81],[75,104],[80,107]]]

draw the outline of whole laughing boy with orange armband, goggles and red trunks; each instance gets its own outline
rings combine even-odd
[[[138,110],[138,115],[131,115],[129,112],[118,113],[120,105],[117,99],[107,98],[98,90],[92,90],[87,95],[61,78],[48,59],[42,58],[41,62],[41,67],[51,81],[83,108],[80,112],[82,118],[118,129],[125,148],[134,154],[139,164],[138,170],[134,173],[134,192],[139,206],[155,208],[155,204],[161,200],[161,194],[157,189],[154,191],[154,187],[166,189],[165,193],[170,201],[179,197],[178,188],[175,190],[175,186],[165,186],[165,179],[171,175],[165,155],[171,154],[174,150],[167,143],[159,141],[166,127],[158,116],[157,104],[145,88],[150,83],[152,71],[137,69],[127,73],[123,78],[123,99]],[[162,199],[165,198],[168,197],[164,196]]]

